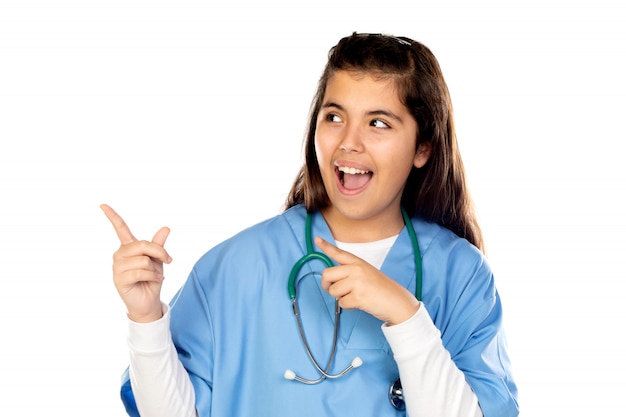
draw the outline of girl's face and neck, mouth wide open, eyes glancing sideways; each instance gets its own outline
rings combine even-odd
[[[400,200],[413,166],[418,127],[391,78],[337,71],[317,118],[315,151],[330,206],[323,210],[335,239],[368,241],[403,227]]]

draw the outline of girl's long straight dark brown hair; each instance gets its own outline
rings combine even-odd
[[[428,162],[422,168],[413,167],[407,178],[401,203],[407,213],[436,222],[484,250],[441,68],[426,46],[405,37],[353,33],[331,48],[311,105],[305,163],[287,196],[286,208],[303,204],[312,212],[330,204],[315,154],[315,128],[328,80],[341,70],[395,80],[402,102],[417,121],[416,146],[431,146]]]

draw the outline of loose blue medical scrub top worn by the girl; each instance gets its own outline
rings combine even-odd
[[[304,350],[287,281],[306,253],[306,211],[297,206],[248,228],[207,252],[171,306],[171,333],[187,369],[200,416],[402,416],[388,398],[398,377],[382,322],[343,310],[331,373],[359,356],[363,365],[317,385],[283,377],[291,369],[317,379]],[[516,416],[501,329],[501,306],[483,255],[449,230],[412,219],[423,263],[423,303],[452,359],[476,393],[486,417]],[[324,218],[313,215],[313,236],[334,242]],[[334,298],[320,285],[321,261],[298,277],[298,304],[313,355],[326,364],[333,338]],[[381,271],[415,290],[413,249],[406,228]],[[405,396],[410,393],[405,393]],[[127,373],[122,399],[138,415]]]

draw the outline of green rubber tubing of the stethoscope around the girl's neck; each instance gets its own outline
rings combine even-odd
[[[413,246],[413,257],[415,261],[415,298],[419,301],[422,300],[422,254],[420,252],[419,244],[417,242],[417,235],[415,234],[415,229],[413,228],[413,223],[411,223],[411,219],[409,215],[406,213],[404,208],[401,209],[402,218],[404,219],[404,224],[406,225],[406,229],[409,233],[409,238],[411,239],[411,245]],[[300,269],[309,261],[314,259],[318,259],[326,264],[329,268],[334,266],[333,261],[324,253],[317,252],[313,250],[313,237],[312,237],[312,216],[307,213],[306,221],[305,221],[305,241],[306,241],[306,255],[300,258],[291,269],[291,273],[289,274],[289,281],[287,283],[287,290],[289,292],[289,298],[291,300],[296,299],[296,279],[298,277],[298,273]]]

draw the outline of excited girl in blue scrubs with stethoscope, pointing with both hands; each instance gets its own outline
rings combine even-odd
[[[102,206],[121,241],[130,415],[518,415],[449,93],[425,46],[355,33],[331,49],[286,206],[205,254],[169,306],[169,229],[138,241]]]

